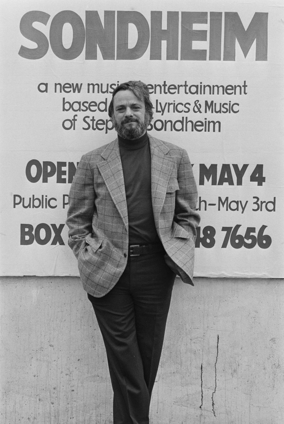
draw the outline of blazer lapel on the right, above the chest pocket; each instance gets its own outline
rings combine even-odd
[[[148,137],[151,152],[152,204],[154,218],[158,223],[174,162],[167,156],[169,149],[163,142],[154,137]]]

